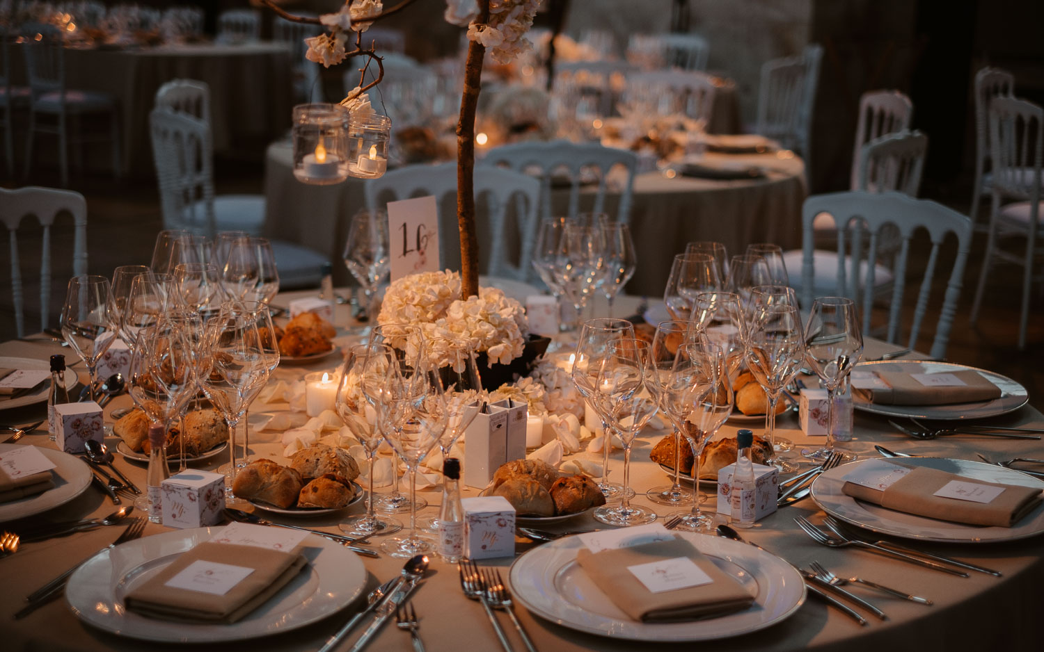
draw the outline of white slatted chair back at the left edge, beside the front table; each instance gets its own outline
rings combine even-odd
[[[51,225],[60,213],[73,218],[72,273],[87,273],[87,200],[70,190],[29,186],[18,190],[0,188],[0,222],[7,227],[10,244],[10,286],[15,299],[15,327],[18,337],[25,335],[25,295],[22,288],[22,266],[19,259],[18,234],[22,219],[32,215],[44,228],[40,260],[40,330],[48,327],[51,300]]]

